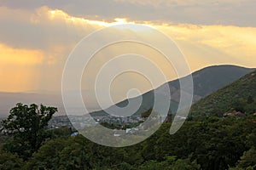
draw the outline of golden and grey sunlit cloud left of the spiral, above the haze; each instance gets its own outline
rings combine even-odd
[[[32,11],[1,7],[0,20],[0,42],[4,48],[0,57],[1,77],[8,80],[2,82],[0,91],[60,90],[63,67],[75,45],[92,31],[112,24],[74,17],[46,6]],[[11,78],[19,74],[30,77],[30,72],[38,78],[26,79],[24,84],[30,83],[27,86],[20,79]]]

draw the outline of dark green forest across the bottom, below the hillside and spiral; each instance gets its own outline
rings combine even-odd
[[[254,121],[253,115],[208,116],[185,122],[173,135],[171,123],[164,123],[143,143],[125,148],[71,137],[68,127],[45,129],[38,148],[26,137],[2,135],[0,169],[255,169]]]

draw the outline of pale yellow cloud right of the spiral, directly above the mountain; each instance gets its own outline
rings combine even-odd
[[[189,24],[157,27],[177,42],[188,58],[192,70],[214,64],[255,67],[255,27]]]

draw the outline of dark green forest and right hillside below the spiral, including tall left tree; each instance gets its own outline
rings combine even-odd
[[[124,148],[71,136],[70,127],[47,129],[56,108],[18,104],[1,122],[0,169],[253,170],[255,85],[254,71],[193,105],[177,133],[170,135],[172,123],[165,122],[150,138]]]

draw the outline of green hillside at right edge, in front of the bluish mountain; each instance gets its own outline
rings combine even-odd
[[[190,116],[222,116],[226,111],[256,112],[256,71],[199,100],[192,106]]]

